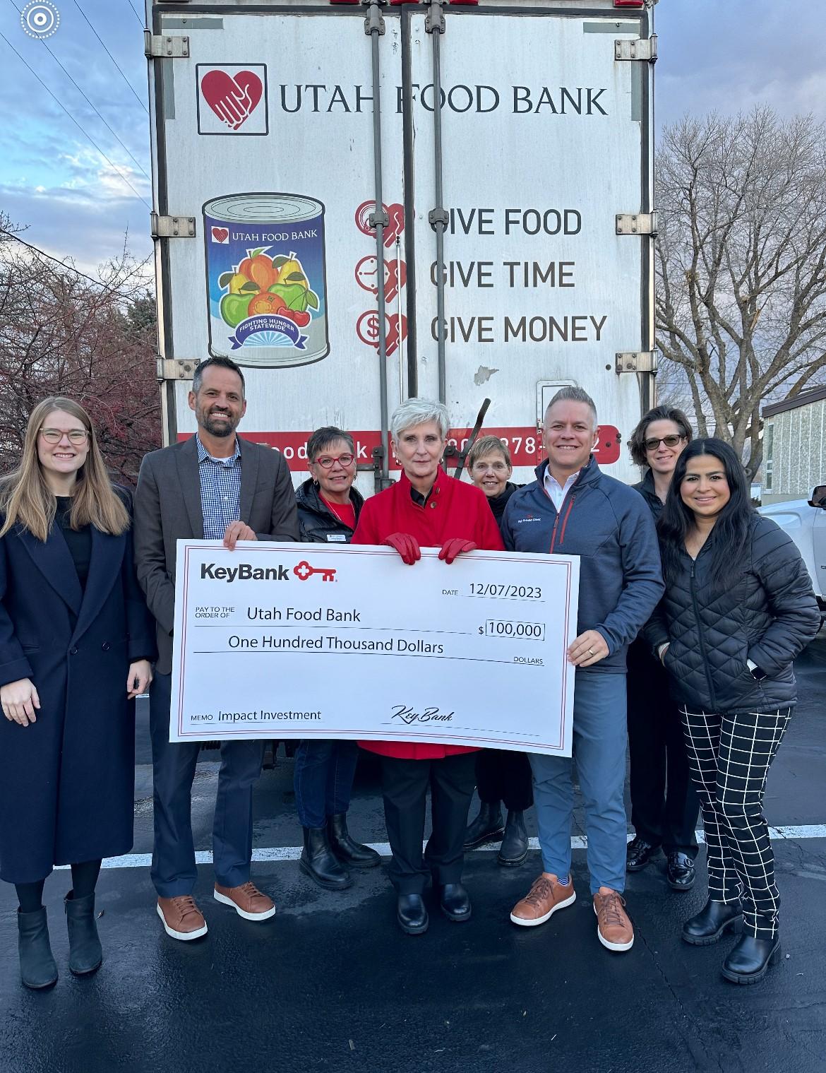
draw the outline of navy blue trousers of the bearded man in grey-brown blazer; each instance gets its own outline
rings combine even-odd
[[[172,675],[149,687],[149,732],[154,777],[154,848],[151,879],[162,898],[191,894],[197,869],[192,841],[191,792],[201,746],[169,741]],[[223,741],[212,825],[216,880],[240,886],[250,878],[252,789],[261,775],[264,741]]]

